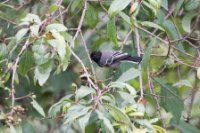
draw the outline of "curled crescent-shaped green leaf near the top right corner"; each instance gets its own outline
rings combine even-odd
[[[188,33],[191,32],[191,21],[197,15],[198,15],[198,13],[189,12],[183,17],[182,26],[183,26],[183,29],[185,30],[185,32],[188,32]]]

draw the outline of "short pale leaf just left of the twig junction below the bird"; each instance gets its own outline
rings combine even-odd
[[[83,97],[95,93],[94,89],[89,88],[87,86],[81,86],[77,91],[76,91],[76,99],[82,99]]]

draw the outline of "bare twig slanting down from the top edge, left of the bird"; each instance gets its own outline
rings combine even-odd
[[[76,40],[76,38],[77,38],[79,32],[81,31],[81,27],[82,27],[82,25],[83,25],[83,20],[84,20],[84,18],[85,18],[85,14],[86,14],[86,10],[87,10],[87,5],[88,5],[87,0],[85,0],[85,5],[84,5],[84,9],[83,9],[83,12],[82,12],[82,15],[81,15],[81,19],[80,19],[80,22],[79,22],[77,31],[76,31],[76,33],[75,33],[75,35],[74,35],[74,38],[73,38],[74,41]]]

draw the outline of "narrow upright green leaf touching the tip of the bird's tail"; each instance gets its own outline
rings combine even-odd
[[[147,68],[149,67],[149,62],[150,62],[150,56],[151,56],[151,51],[152,51],[152,47],[155,44],[156,39],[152,38],[151,41],[148,43],[148,46],[144,52],[144,56],[142,59],[142,67],[143,69],[146,71]]]

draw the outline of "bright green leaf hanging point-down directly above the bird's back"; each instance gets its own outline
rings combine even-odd
[[[107,36],[116,46],[118,46],[117,29],[114,19],[110,19],[107,23]]]

